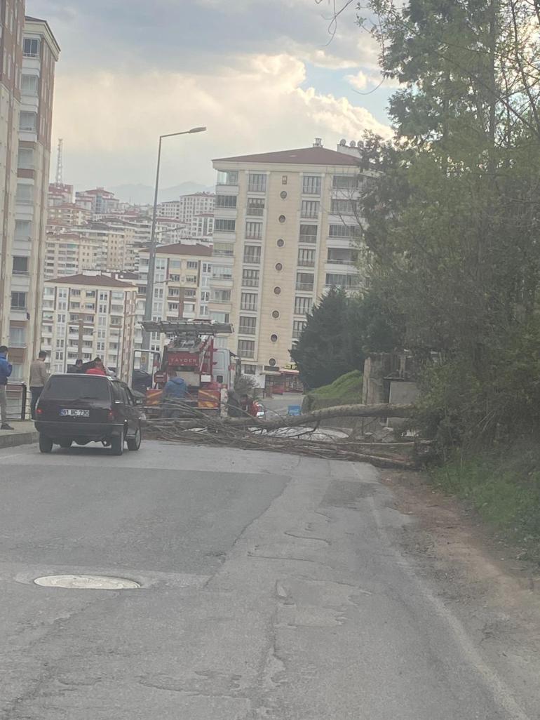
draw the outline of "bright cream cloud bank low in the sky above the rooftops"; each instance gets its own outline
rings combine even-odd
[[[292,55],[247,55],[235,66],[181,72],[99,71],[59,76],[55,136],[64,138],[66,180],[151,184],[158,135],[207,125],[204,135],[170,138],[163,186],[212,183],[210,159],[306,147],[333,148],[364,130],[389,135],[363,107],[305,88],[305,64]],[[104,169],[106,168],[106,170]]]

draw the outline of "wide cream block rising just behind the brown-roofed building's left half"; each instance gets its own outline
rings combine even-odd
[[[45,243],[45,279],[107,270],[107,246],[78,233],[49,233]]]

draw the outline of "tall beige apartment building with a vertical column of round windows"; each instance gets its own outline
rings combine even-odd
[[[320,140],[214,167],[210,317],[233,323],[228,346],[268,387],[289,374],[313,303],[328,287],[359,287],[354,198],[364,179],[358,156]]]

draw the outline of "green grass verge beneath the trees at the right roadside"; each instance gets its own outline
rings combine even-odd
[[[433,483],[466,500],[508,540],[540,560],[540,449],[519,446],[456,458],[431,470]]]

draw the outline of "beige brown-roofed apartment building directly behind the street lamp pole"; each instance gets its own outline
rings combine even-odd
[[[152,300],[154,320],[209,317],[211,257],[212,248],[203,245],[174,243],[156,249]],[[143,343],[140,321],[145,314],[149,260],[148,249],[141,251],[138,273],[138,330],[135,339],[137,348],[142,348]],[[165,341],[164,336],[153,333],[150,349],[161,350]]]

